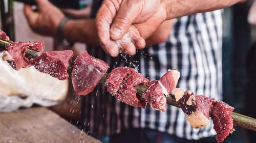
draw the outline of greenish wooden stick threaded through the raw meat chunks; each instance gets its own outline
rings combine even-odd
[[[6,50],[6,47],[11,43],[12,41],[0,39],[0,51]],[[42,52],[39,52],[37,50],[28,49],[26,51],[26,57],[29,59],[37,58],[39,55],[41,55]],[[73,63],[69,63],[68,72],[71,73],[73,69]],[[108,74],[103,74],[101,79],[99,80],[99,83],[105,84],[106,78],[108,77]],[[137,90],[137,93],[139,96],[142,96],[143,93],[147,90],[147,85],[144,84],[138,84],[135,86],[135,89]],[[176,98],[173,94],[169,94],[166,98],[166,103],[169,105],[173,105],[176,107],[180,107],[179,102],[176,101]],[[210,111],[211,113],[211,111]],[[244,115],[240,115],[239,113],[232,112],[232,119],[234,125],[250,129],[253,131],[256,131],[256,120],[250,117],[246,117]]]

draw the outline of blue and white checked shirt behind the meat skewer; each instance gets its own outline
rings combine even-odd
[[[221,100],[221,40],[222,19],[218,10],[174,19],[167,41],[146,47],[135,56],[112,58],[100,47],[88,47],[88,51],[111,69],[134,67],[150,80],[159,79],[168,69],[177,69],[181,73],[177,87]],[[187,139],[215,134],[212,123],[198,130],[192,128],[177,107],[167,105],[167,110],[161,112],[150,105],[146,109],[129,106],[106,93],[101,84],[83,101],[84,129],[99,137],[129,128],[151,128]]]

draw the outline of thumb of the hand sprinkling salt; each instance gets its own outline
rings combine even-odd
[[[117,15],[110,28],[110,37],[113,40],[119,40],[132,25],[134,19],[138,16],[139,10],[130,7],[129,4],[121,4]]]

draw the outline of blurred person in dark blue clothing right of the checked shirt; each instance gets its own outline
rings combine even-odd
[[[245,107],[247,73],[246,53],[250,47],[250,25],[247,22],[248,1],[241,1],[223,12],[223,101],[241,113]],[[223,142],[244,142],[247,135],[237,127]]]

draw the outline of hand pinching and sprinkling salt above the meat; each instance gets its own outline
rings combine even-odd
[[[102,45],[108,45],[111,39],[121,39],[132,24],[140,37],[146,39],[166,17],[162,0],[105,0],[96,16],[99,41]]]

